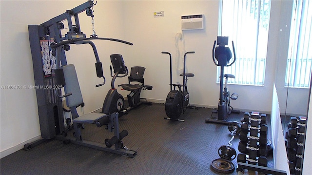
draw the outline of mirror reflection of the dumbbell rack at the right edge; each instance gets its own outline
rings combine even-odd
[[[292,175],[301,175],[306,121],[306,117],[291,117],[287,125],[285,145]]]

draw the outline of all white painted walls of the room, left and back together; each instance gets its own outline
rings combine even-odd
[[[28,24],[41,24],[52,19],[67,9],[72,9],[85,1],[0,1],[1,15],[1,85],[34,85],[32,58],[28,39]],[[212,61],[213,42],[217,36],[218,0],[98,0],[94,6],[95,29],[103,38],[116,38],[134,43],[133,46],[112,41],[95,41],[100,60],[103,62],[107,83],[99,88],[101,82],[95,73],[95,58],[90,46],[73,45],[66,52],[68,63],[74,63],[88,113],[102,107],[104,97],[110,88],[109,55],[123,55],[127,67],[144,66],[145,81],[153,85],[153,90],[143,91],[141,96],[151,100],[164,101],[169,92],[169,58],[161,51],[171,52],[176,56],[175,36],[181,31],[180,18],[183,15],[204,14],[204,29],[183,31],[185,50],[195,51],[187,57],[187,71],[195,74],[189,78],[188,86],[191,103],[198,106],[216,107],[219,85],[216,84],[216,66]],[[44,9],[44,13],[43,10]],[[282,19],[281,1],[273,0],[269,34],[269,49],[266,65],[265,86],[229,85],[231,92],[239,97],[232,101],[236,109],[271,111],[272,86],[277,78],[276,71],[281,58],[278,51],[279,20]],[[48,11],[48,12],[47,12]],[[164,17],[154,18],[157,11],[164,11]],[[90,17],[79,15],[81,30],[92,34]],[[173,62],[175,64],[175,62]],[[279,64],[281,65],[281,64]],[[285,67],[278,67],[279,70]],[[173,82],[180,81],[180,72],[173,72]],[[127,82],[119,78],[116,84]],[[285,90],[283,85],[276,86]],[[120,91],[119,91],[120,92]],[[120,92],[126,96],[127,92]],[[279,94],[279,97],[282,95]],[[302,99],[306,92],[296,92]],[[1,89],[1,157],[13,148],[21,148],[25,142],[40,136],[37,99],[35,90]],[[282,100],[284,101],[284,100]],[[295,105],[288,103],[288,106]],[[280,102],[282,103],[282,102]],[[303,102],[304,103],[304,102]],[[280,105],[282,109],[283,105]],[[290,113],[305,114],[307,107],[296,106]]]

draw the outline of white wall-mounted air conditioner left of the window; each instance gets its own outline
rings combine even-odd
[[[194,29],[203,29],[203,19],[204,15],[188,15],[181,17],[181,28],[182,30],[194,30]]]

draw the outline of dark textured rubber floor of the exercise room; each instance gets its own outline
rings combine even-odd
[[[129,132],[122,139],[124,146],[130,149],[137,147],[134,158],[72,143],[64,145],[62,141],[53,139],[28,151],[20,150],[1,158],[0,174],[221,175],[213,171],[210,164],[220,158],[218,148],[228,144],[232,136],[226,125],[205,123],[206,118],[212,117],[211,111],[208,108],[188,109],[180,117],[185,122],[181,122],[164,119],[167,117],[164,104],[141,105],[119,119],[120,131],[126,129]],[[243,112],[231,114],[228,121],[240,122],[243,115]],[[105,127],[88,124],[82,137],[104,143],[113,135]],[[237,154],[238,143],[239,138],[235,136],[232,147]],[[272,167],[273,156],[267,158],[268,167]],[[237,159],[232,162],[236,167]],[[235,174],[236,168],[230,175]]]

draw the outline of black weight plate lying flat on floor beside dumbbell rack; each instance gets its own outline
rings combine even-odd
[[[235,169],[234,164],[224,158],[218,158],[212,161],[211,168],[219,173],[232,173]]]

